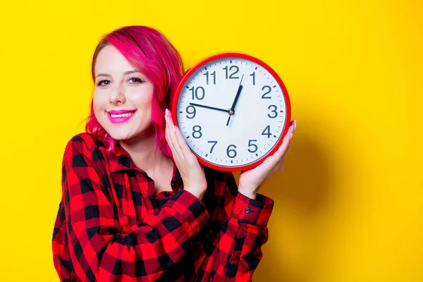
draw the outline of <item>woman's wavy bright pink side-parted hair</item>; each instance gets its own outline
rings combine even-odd
[[[159,31],[151,27],[132,25],[121,27],[105,35],[97,44],[92,57],[92,80],[95,80],[94,64],[99,51],[112,44],[137,70],[147,75],[154,86],[152,99],[152,124],[156,134],[157,149],[172,157],[171,149],[165,139],[164,111],[171,106],[173,94],[183,75],[183,62],[171,42]],[[94,116],[93,102],[85,130],[96,135],[114,150],[114,140],[99,124]]]

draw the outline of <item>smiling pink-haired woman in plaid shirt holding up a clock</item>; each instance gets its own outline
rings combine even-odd
[[[87,133],[63,156],[53,235],[61,281],[250,281],[274,202],[257,192],[281,148],[240,175],[201,166],[168,107],[183,74],[156,30],[123,27],[99,42]]]

